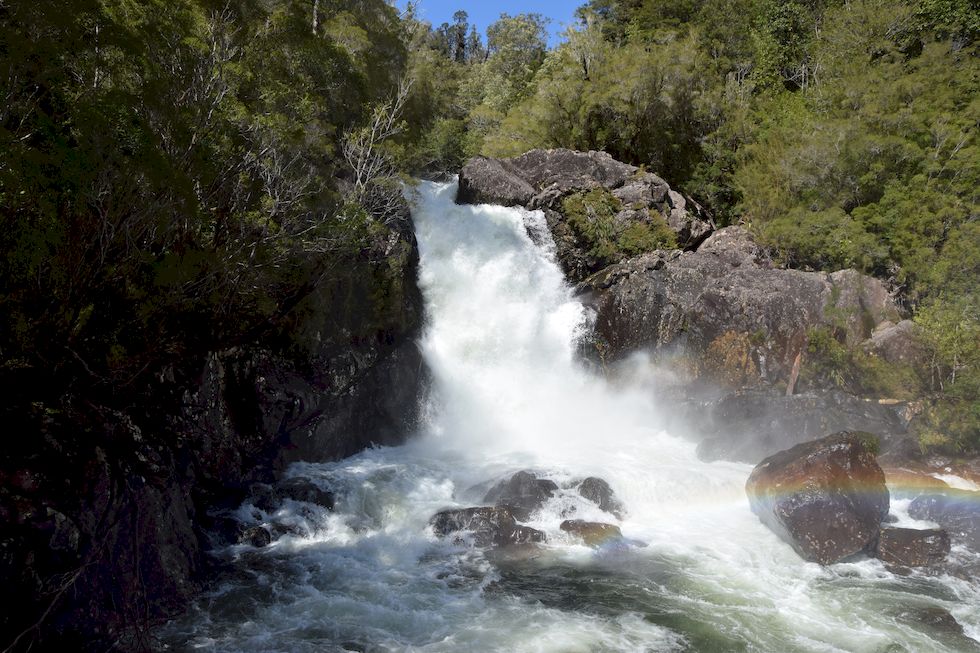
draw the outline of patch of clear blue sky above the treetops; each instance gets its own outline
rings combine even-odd
[[[538,13],[551,19],[548,29],[554,45],[558,42],[558,34],[572,23],[575,10],[584,3],[585,0],[419,0],[419,13],[423,20],[438,27],[442,23],[451,23],[453,14],[462,9],[469,14],[470,24],[475,24],[483,34],[502,13],[512,16]],[[404,7],[405,0],[398,0],[397,5]]]

